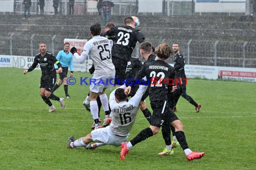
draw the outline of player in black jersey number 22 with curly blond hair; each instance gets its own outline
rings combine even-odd
[[[167,93],[169,93],[168,86],[172,88],[172,83],[169,79],[174,79],[174,68],[166,63],[166,59],[172,54],[171,47],[167,43],[162,43],[155,49],[155,53],[158,56],[156,61],[143,65],[141,71],[135,77],[136,79],[141,79],[146,76],[150,78],[150,105],[153,110],[153,115],[151,119],[150,127],[142,130],[137,136],[135,136],[129,142],[123,142],[121,144],[120,158],[124,161],[126,154],[129,149],[135,144],[146,140],[150,136],[153,136],[159,132],[160,127],[162,130],[163,138],[166,143],[166,149],[159,155],[168,155],[172,150],[171,140],[170,140],[170,123],[175,127],[177,140],[180,142],[182,149],[185,152],[185,156],[189,161],[193,159],[199,159],[204,156],[204,152],[197,153],[192,152],[186,142],[185,133],[183,132],[183,125],[178,119],[177,115],[172,112],[167,102]],[[174,86],[177,88],[176,86]],[[172,88],[172,92],[175,88]],[[125,89],[125,92],[129,93],[131,86]]]

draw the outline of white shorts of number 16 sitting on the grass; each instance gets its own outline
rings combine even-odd
[[[104,144],[120,146],[122,142],[126,142],[128,136],[116,136],[111,131],[109,126],[95,129],[91,132],[93,142],[101,142]]]

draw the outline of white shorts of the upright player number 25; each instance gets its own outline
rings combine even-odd
[[[112,80],[111,80],[112,79]],[[102,92],[104,88],[112,89],[115,83],[115,73],[108,75],[93,75],[90,90],[94,93]]]

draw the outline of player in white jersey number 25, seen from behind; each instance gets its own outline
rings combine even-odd
[[[108,99],[105,90],[106,88],[111,89],[114,85],[114,82],[111,83],[108,80],[115,79],[115,66],[111,60],[110,41],[108,38],[100,36],[101,33],[101,25],[99,23],[93,24],[90,27],[92,39],[84,45],[81,56],[79,56],[75,47],[71,48],[71,53],[79,63],[84,63],[89,54],[93,59],[95,71],[92,80],[96,81],[90,84],[90,107],[95,129],[102,127],[99,122],[97,97],[100,96],[103,109],[106,115],[109,115]]]

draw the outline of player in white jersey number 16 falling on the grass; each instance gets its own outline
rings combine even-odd
[[[95,149],[106,144],[120,146],[128,139],[129,132],[135,122],[141,97],[146,91],[146,85],[141,85],[136,94],[127,101],[124,93],[125,85],[120,86],[110,93],[110,108],[112,110],[112,122],[109,126],[93,130],[85,137],[75,140],[74,136],[68,139],[67,148],[84,146],[86,149]],[[89,144],[90,142],[97,142]]]

